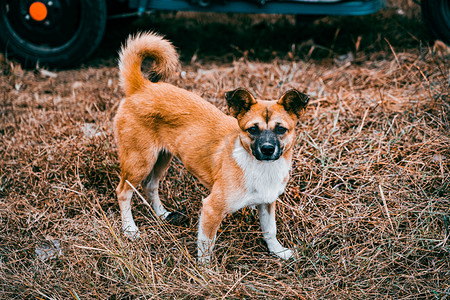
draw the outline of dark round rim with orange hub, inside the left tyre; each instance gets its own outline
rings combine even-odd
[[[1,7],[7,33],[20,47],[53,53],[71,46],[80,33],[82,1],[8,0]]]

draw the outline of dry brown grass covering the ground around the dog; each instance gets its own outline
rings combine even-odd
[[[421,26],[390,14],[335,18],[309,30],[320,36],[327,26],[335,32],[337,24],[374,19]],[[286,20],[275,18],[269,29],[284,32],[292,26]],[[277,43],[255,46],[250,36],[236,41],[234,62],[226,55],[215,64],[207,59],[214,50],[203,46],[190,62],[185,33],[171,33],[186,72],[171,82],[221,108],[223,93],[238,86],[261,98],[297,87],[313,99],[277,212],[278,236],[297,258],[269,255],[255,212],[244,209],[223,222],[211,269],[193,257],[207,191],[179,163],[161,193],[171,210],[186,209],[186,224],[159,222],[135,197],[142,238],[130,242],[119,230],[111,126],[122,92],[114,60],[97,54],[56,78],[3,61],[0,297],[450,298],[449,57],[389,26],[368,32],[373,38],[362,32],[358,50],[349,42],[357,39],[340,31],[324,43],[307,37],[298,52],[276,50],[282,59],[264,54]],[[355,59],[339,59],[349,49]],[[317,51],[325,52],[314,57]]]

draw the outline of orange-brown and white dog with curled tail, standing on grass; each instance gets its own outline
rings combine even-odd
[[[151,81],[141,64],[153,59]],[[170,42],[154,33],[130,37],[120,53],[120,78],[126,98],[115,117],[121,179],[117,196],[123,230],[138,234],[131,213],[132,187],[142,184],[161,218],[158,185],[173,156],[210,189],[203,199],[198,256],[208,262],[222,219],[256,205],[270,252],[289,259],[293,252],[276,238],[275,201],[289,178],[295,127],[308,97],[287,91],[279,100],[261,101],[245,89],[225,94],[227,116],[201,97],[169,83],[179,64]]]

